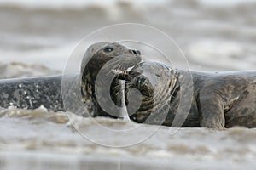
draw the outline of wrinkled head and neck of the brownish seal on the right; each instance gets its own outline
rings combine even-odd
[[[177,71],[157,62],[143,62],[126,79],[125,102],[131,120],[162,124],[175,92]]]

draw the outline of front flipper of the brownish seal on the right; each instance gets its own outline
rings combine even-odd
[[[197,99],[201,127],[224,129],[224,101],[218,94],[201,92]]]

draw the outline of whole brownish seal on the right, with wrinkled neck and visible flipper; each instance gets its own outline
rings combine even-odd
[[[135,122],[174,127],[256,127],[256,71],[198,72],[155,65],[162,64],[141,63],[126,76],[126,105],[132,102],[132,90],[141,95],[140,105],[130,106],[137,111],[128,109]],[[143,71],[149,67],[148,78]],[[150,77],[161,81],[152,82]]]

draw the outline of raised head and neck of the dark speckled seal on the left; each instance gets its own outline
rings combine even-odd
[[[137,65],[142,59],[141,53],[117,42],[98,42],[87,49],[84,58],[81,67],[81,92],[85,107],[91,116],[111,116],[99,105],[96,92],[101,94],[102,105],[116,104],[117,102],[108,98],[112,95],[112,89],[107,89],[106,92],[106,88],[117,81],[117,72]]]

